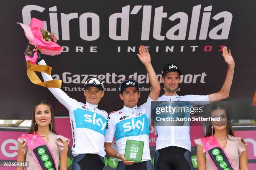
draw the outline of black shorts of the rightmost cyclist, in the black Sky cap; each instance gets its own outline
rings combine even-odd
[[[156,170],[194,170],[190,151],[177,146],[156,150],[154,166]]]

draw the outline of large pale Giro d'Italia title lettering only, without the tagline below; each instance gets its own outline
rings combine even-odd
[[[196,40],[197,32],[199,31],[199,40],[206,40],[207,38],[212,40],[226,40],[228,39],[230,25],[232,22],[233,15],[228,11],[222,11],[220,13],[215,13],[213,10],[216,7],[196,5],[192,7],[192,13],[167,13],[164,12],[168,10],[166,6],[152,7],[152,5],[135,5],[135,6],[124,6],[121,9],[113,9],[112,15],[109,16],[109,37],[113,40],[128,40],[129,37],[129,20],[130,15],[137,15],[139,11],[142,12],[141,18],[136,18],[137,20],[142,19],[142,27],[138,28],[141,30],[141,40],[149,40],[150,33],[156,40],[185,40],[187,34],[187,28],[189,25],[189,20],[191,23],[188,29],[188,40]],[[23,23],[29,25],[31,16],[31,11],[38,11],[40,13],[48,13],[46,8],[38,5],[26,5],[22,9],[22,18]],[[84,11],[80,16],[78,13],[65,14],[66,11],[57,11],[57,6],[49,8],[49,23],[45,22],[45,28],[50,29],[51,32],[55,32],[56,37],[59,40],[70,40],[70,29],[73,25],[69,25],[70,20],[79,20],[79,36],[83,40],[93,41],[97,40],[100,37],[100,14],[96,13],[87,13]],[[58,15],[60,13],[60,15]],[[79,12],[80,14],[81,12]],[[154,14],[154,22],[150,22],[152,15]],[[103,14],[103,13],[102,13]],[[138,15],[141,15],[139,13]],[[201,17],[200,17],[201,15]],[[211,15],[213,17],[211,18]],[[58,23],[58,16],[61,18],[61,23]],[[105,17],[105,16],[104,16]],[[87,20],[90,18],[92,20],[92,35],[88,35],[88,25]],[[118,19],[121,19],[121,35],[117,35]],[[222,23],[218,23],[209,31],[210,23],[224,18]],[[40,19],[40,18],[38,18]],[[133,18],[132,18],[133,19]],[[167,32],[161,32],[162,27],[166,27],[164,22],[169,20],[171,23],[174,20],[180,20],[177,25],[172,26]],[[164,22],[163,22],[164,21]],[[201,23],[201,25],[199,25]],[[49,26],[50,25],[50,26]],[[153,25],[153,30],[150,31],[151,25]],[[59,37],[59,30],[62,32],[62,37]],[[179,30],[178,35],[175,32]],[[218,33],[221,30],[220,33]],[[161,33],[163,35],[161,35]]]

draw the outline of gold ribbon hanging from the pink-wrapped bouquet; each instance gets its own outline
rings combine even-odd
[[[51,67],[48,65],[36,65],[32,64],[30,62],[27,62],[27,75],[29,80],[36,84],[36,85],[41,85],[46,88],[60,88],[61,87],[61,80],[49,80],[42,82],[39,77],[36,75],[36,72],[44,72],[48,75],[51,75]]]

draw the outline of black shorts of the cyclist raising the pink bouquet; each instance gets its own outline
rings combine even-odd
[[[73,159],[72,170],[106,170],[104,158],[96,154],[79,154]]]

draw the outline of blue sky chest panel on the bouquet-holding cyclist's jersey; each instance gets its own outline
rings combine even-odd
[[[74,110],[74,117],[77,128],[91,129],[105,136],[107,125],[105,117],[90,110],[80,108]]]

